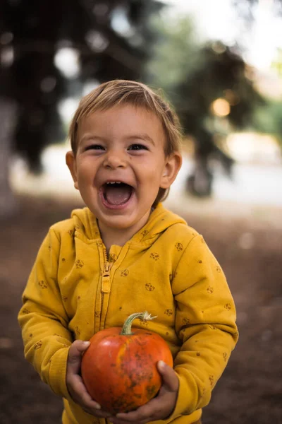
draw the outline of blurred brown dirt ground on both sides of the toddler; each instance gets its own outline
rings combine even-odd
[[[20,213],[1,222],[0,423],[60,423],[61,399],[23,358],[17,314],[49,225],[78,205],[24,196],[18,202]],[[184,217],[204,235],[226,273],[240,331],[203,423],[282,423],[282,211],[276,211],[280,223],[187,211]]]

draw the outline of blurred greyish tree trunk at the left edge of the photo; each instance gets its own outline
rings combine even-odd
[[[0,98],[0,218],[16,211],[16,198],[9,180],[13,129],[16,124],[16,103]]]

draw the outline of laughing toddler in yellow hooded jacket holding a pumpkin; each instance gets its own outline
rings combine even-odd
[[[51,226],[23,293],[25,358],[63,398],[63,424],[200,423],[238,339],[235,306],[202,235],[166,210],[181,166],[176,114],[142,83],[109,81],[80,101],[66,163],[86,205]],[[87,393],[82,353],[97,331],[134,326],[163,337],[159,394],[113,416]]]

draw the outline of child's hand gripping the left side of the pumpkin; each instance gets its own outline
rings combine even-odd
[[[102,411],[101,406],[95,402],[88,393],[79,374],[81,365],[81,354],[90,345],[89,341],[75,340],[68,351],[68,362],[66,367],[66,387],[73,401],[93,416],[107,418],[110,413]]]

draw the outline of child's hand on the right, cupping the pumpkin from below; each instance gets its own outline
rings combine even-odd
[[[157,364],[163,384],[157,397],[147,404],[140,406],[136,411],[128,413],[117,413],[115,417],[109,418],[114,424],[145,424],[149,421],[164,420],[168,418],[176,406],[179,381],[173,368],[163,361]]]

